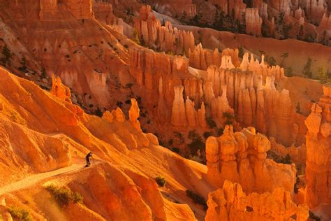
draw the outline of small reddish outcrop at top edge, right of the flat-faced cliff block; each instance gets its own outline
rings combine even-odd
[[[93,12],[94,17],[97,20],[110,25],[110,27],[115,29],[117,32],[123,34],[123,20],[122,18],[116,17],[112,13],[112,4],[105,1],[96,0],[93,2]]]

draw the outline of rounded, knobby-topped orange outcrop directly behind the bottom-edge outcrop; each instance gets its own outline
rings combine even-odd
[[[272,192],[277,187],[293,193],[295,165],[266,159],[270,141],[254,128],[233,132],[226,126],[223,135],[206,141],[207,178],[215,187],[225,180],[240,183],[244,192]]]

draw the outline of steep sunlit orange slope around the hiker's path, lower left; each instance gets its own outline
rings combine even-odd
[[[133,217],[192,220],[194,215],[189,206],[196,212],[196,218],[204,217],[203,208],[195,206],[185,190],[207,197],[212,189],[205,181],[206,166],[179,157],[159,146],[154,135],[143,134],[135,126],[137,115],[133,113],[138,110],[134,106],[130,120],[125,120],[119,108],[110,113],[112,120],[109,115],[103,118],[87,115],[78,106],[54,97],[34,83],[3,68],[0,71],[0,171],[8,177],[1,179],[0,184],[1,199],[6,202],[3,204],[20,206],[20,201],[26,200],[35,218],[52,218],[45,202],[34,197],[38,194],[47,198],[42,187],[47,180],[78,190],[84,196],[84,211],[89,215],[98,213],[106,220]],[[83,159],[79,158],[89,150],[99,162],[90,169],[71,171],[71,166],[68,173],[45,176],[35,180],[36,184],[23,186],[24,190],[15,187],[16,191],[8,193],[10,183],[33,173],[65,168],[72,162],[77,164],[77,160],[83,166]],[[154,181],[156,176],[167,181],[161,190]],[[71,210],[60,212],[70,220]]]

